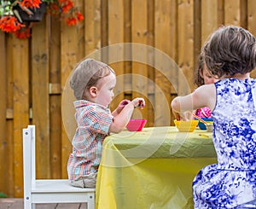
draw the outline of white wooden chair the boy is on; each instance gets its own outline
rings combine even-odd
[[[23,129],[24,208],[37,203],[87,203],[95,208],[95,189],[76,188],[67,179],[36,179],[35,125]]]

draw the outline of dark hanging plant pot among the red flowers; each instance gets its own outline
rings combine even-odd
[[[32,12],[31,15],[27,14],[26,11],[21,9],[19,4],[16,4],[13,9],[16,10],[20,15],[19,17],[18,15],[15,14],[18,20],[21,19],[20,21],[22,22],[38,22],[43,19],[44,14],[46,12],[46,7],[47,3],[41,3],[39,8],[29,9]]]

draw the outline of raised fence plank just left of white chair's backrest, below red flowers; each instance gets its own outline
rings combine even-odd
[[[29,57],[28,40],[14,38],[14,177],[15,197],[23,195],[22,128],[29,123]]]

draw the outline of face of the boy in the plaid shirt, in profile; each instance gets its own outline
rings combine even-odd
[[[113,100],[113,88],[116,84],[116,77],[113,73],[110,73],[108,76],[99,79],[97,82],[97,95],[96,103],[108,107],[110,102]]]

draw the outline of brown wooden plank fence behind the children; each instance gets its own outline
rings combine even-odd
[[[76,4],[85,17],[79,26],[45,16],[32,27],[32,38],[0,32],[0,192],[9,197],[23,196],[21,131],[26,125],[37,127],[37,177],[67,177],[71,142],[61,96],[73,67],[85,56],[107,62],[117,73],[112,107],[123,98],[143,96],[147,107],[135,116],[148,119],[148,126],[172,125],[170,102],[195,88],[195,64],[207,36],[225,24],[256,35],[255,0]]]

